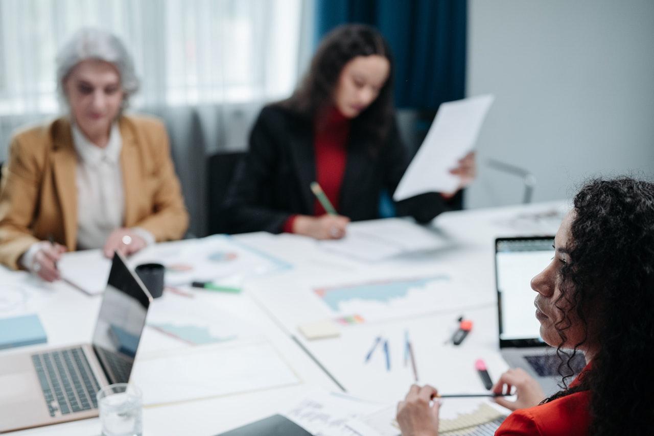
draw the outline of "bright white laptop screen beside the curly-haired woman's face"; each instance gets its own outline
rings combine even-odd
[[[498,296],[500,347],[544,344],[534,313],[532,277],[554,256],[554,237],[498,238],[495,277]]]

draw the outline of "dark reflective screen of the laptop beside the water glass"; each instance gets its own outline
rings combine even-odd
[[[109,272],[93,335],[93,348],[109,383],[126,383],[152,297],[118,253]]]

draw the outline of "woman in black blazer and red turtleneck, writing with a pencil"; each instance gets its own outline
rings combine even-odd
[[[305,80],[289,99],[261,111],[224,203],[230,233],[292,231],[343,237],[350,220],[379,217],[409,165],[392,105],[387,42],[366,25],[343,25],[318,47]],[[460,188],[475,176],[472,154],[452,170]],[[311,192],[318,181],[339,215]],[[396,203],[398,215],[426,223],[460,209],[462,195],[425,193]]]

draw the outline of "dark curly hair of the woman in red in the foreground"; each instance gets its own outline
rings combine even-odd
[[[651,434],[654,423],[654,184],[593,180],[574,199],[570,264],[560,271],[555,327],[568,339],[571,315],[585,327],[579,346],[598,352],[581,383],[543,403],[587,390],[591,435]],[[565,309],[564,309],[565,308]],[[589,326],[591,327],[589,329]],[[569,373],[570,353],[562,363]]]

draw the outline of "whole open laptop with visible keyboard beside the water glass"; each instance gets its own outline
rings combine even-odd
[[[151,301],[114,254],[92,343],[0,356],[0,433],[97,416],[97,391],[129,380]]]

